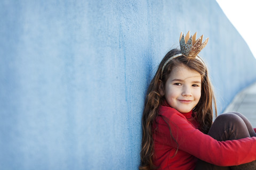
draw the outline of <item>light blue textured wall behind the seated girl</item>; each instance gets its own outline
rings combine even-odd
[[[137,169],[141,115],[180,32],[209,37],[218,110],[255,58],[209,1],[0,1],[0,169]]]

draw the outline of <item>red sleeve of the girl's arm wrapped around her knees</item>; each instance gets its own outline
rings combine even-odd
[[[185,116],[173,110],[174,109],[166,111],[167,114],[163,112],[162,115],[166,117],[166,121],[170,125],[173,138],[177,139],[179,150],[188,152],[205,162],[218,166],[245,164],[256,159],[256,137],[217,141],[209,135],[195,129],[194,126],[187,121]],[[159,120],[160,119],[162,118],[159,118]],[[161,126],[163,128],[163,124],[165,124],[165,130],[163,131],[166,131],[166,123],[164,121],[162,121],[162,123],[159,121],[158,123],[159,130]],[[163,133],[169,134],[170,137],[170,133]],[[170,137],[169,139],[172,138]],[[177,144],[173,140],[164,141],[166,145],[177,148]]]

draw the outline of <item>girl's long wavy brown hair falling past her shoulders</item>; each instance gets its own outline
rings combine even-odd
[[[191,70],[195,70],[202,76],[202,89],[201,89],[201,98],[199,99],[198,104],[194,108],[196,113],[196,120],[201,127],[201,131],[207,134],[211,128],[213,120],[213,104],[215,108],[215,116],[217,116],[217,108],[215,97],[213,94],[212,85],[208,75],[206,65],[196,59],[186,56],[179,56],[173,58],[168,64],[165,65],[163,73],[162,67],[163,64],[172,56],[179,54],[180,50],[172,49],[168,52],[161,63],[158,66],[155,77],[151,80],[147,96],[145,100],[144,111],[142,115],[142,142],[141,142],[141,165],[139,169],[155,169],[156,167],[153,164],[153,155],[154,155],[154,140],[153,140],[153,123],[158,116],[158,109],[161,104],[163,104],[165,98],[160,95],[160,84],[162,83],[165,86],[167,79],[174,66],[185,65]],[[162,75],[161,75],[162,74]],[[164,87],[165,88],[165,87]],[[165,121],[166,122],[166,121]],[[167,123],[167,122],[166,122]],[[170,129],[170,126],[169,126]],[[170,130],[171,133],[171,130]],[[171,135],[172,137],[172,135]],[[175,139],[173,139],[175,141]],[[178,143],[177,143],[178,151]]]

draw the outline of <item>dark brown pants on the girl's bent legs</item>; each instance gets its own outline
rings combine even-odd
[[[230,112],[219,115],[212,124],[212,127],[208,133],[212,138],[218,141],[235,140],[247,137],[256,137],[251,123],[241,113]],[[256,169],[256,160],[251,163],[242,164],[238,166],[221,167],[213,164],[198,160],[196,170],[201,169]]]

